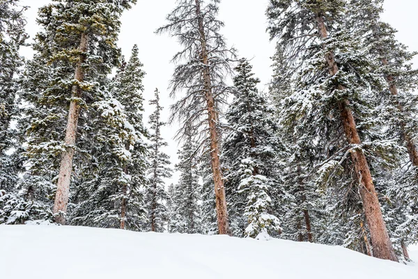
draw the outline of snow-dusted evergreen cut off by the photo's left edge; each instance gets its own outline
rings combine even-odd
[[[20,127],[12,126],[20,121],[22,114],[17,103],[20,85],[17,76],[23,66],[19,50],[27,38],[24,10],[17,0],[0,1],[0,223],[7,224],[25,223],[48,215],[45,204],[28,200],[36,193],[26,186],[35,187],[42,179],[25,181],[24,176],[18,181],[18,174],[23,171],[22,135]],[[10,155],[10,149],[16,150]],[[21,191],[22,188],[29,191]]]

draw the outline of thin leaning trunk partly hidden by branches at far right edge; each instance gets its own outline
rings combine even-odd
[[[382,53],[381,53],[382,54]],[[385,57],[382,58],[382,64],[387,66],[389,62]],[[395,78],[393,75],[387,75],[386,76],[387,83],[389,84],[389,91],[393,96],[398,95],[398,87],[395,83]],[[403,112],[403,107],[401,104],[397,104],[398,110],[400,112]],[[414,140],[412,140],[412,137],[408,134],[408,131],[406,130],[406,124],[403,121],[399,122],[399,126],[401,126],[401,132],[402,132],[402,138],[406,143],[406,148],[408,149],[408,154],[410,156],[410,160],[412,165],[415,167],[418,166],[418,151],[417,147],[415,146]]]

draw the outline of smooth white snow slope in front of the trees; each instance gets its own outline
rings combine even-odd
[[[0,278],[407,279],[418,268],[283,240],[1,225]]]

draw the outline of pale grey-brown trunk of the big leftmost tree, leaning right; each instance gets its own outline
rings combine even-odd
[[[61,225],[65,225],[65,213],[68,206],[68,195],[70,193],[70,182],[72,172],[72,158],[75,152],[75,140],[77,137],[77,125],[80,113],[79,100],[82,97],[82,89],[79,82],[84,81],[83,64],[86,61],[86,53],[88,51],[88,34],[82,33],[79,45],[79,59],[75,68],[75,80],[77,84],[72,86],[70,101],[70,110],[68,112],[68,122],[65,131],[65,151],[61,154],[61,165],[59,168],[58,183],[56,186],[56,196],[54,204],[55,221]]]

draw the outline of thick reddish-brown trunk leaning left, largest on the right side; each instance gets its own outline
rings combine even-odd
[[[320,37],[325,39],[328,37],[327,29],[325,27],[324,17],[321,13],[316,15],[318,21],[318,31]],[[334,76],[339,68],[335,61],[333,52],[325,53],[325,60],[327,61],[330,75]],[[339,84],[337,89],[343,90],[344,87]],[[348,100],[343,100],[339,103],[339,110],[341,112],[341,121],[344,132],[346,133],[349,144],[361,144],[357,126],[353,113],[350,110]],[[360,149],[355,149],[351,152],[351,158],[355,166],[355,173],[359,179],[359,192],[362,197],[364,212],[366,213],[366,220],[369,224],[371,243],[373,246],[373,256],[380,259],[390,259],[398,262],[398,258],[394,252],[392,241],[387,233],[385,220],[383,220],[382,211],[378,200],[378,194],[373,184],[369,164],[366,156]]]

